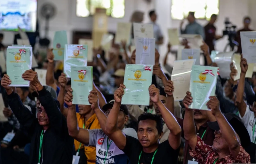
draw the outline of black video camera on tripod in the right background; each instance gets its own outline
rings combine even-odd
[[[238,46],[239,43],[235,41],[236,38],[236,25],[233,25],[230,21],[229,18],[225,19],[225,30],[223,30],[223,36],[228,35],[228,45],[231,48],[231,51],[234,51],[235,46]],[[228,45],[225,47],[224,52],[226,51]]]

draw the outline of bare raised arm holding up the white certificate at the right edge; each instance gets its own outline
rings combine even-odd
[[[236,103],[241,117],[244,117],[246,111],[246,103],[244,102],[244,82],[245,82],[245,74],[248,69],[247,60],[243,58],[243,54],[241,54],[241,74],[240,79],[237,85],[236,91]]]

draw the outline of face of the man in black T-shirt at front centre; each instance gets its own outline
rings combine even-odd
[[[162,134],[158,134],[156,129],[156,121],[154,120],[141,120],[138,124],[138,139],[143,147],[156,144]]]

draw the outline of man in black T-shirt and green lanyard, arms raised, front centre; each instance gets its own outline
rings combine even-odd
[[[124,151],[131,164],[177,163],[181,128],[172,113],[160,101],[159,89],[155,85],[150,85],[148,88],[150,100],[157,105],[165,124],[170,130],[168,140],[159,144],[159,139],[163,135],[163,120],[156,114],[142,113],[140,115],[138,119],[138,139],[127,136],[118,129],[118,115],[125,88],[121,84],[114,94],[115,102],[108,114],[105,127],[109,138],[119,149]]]

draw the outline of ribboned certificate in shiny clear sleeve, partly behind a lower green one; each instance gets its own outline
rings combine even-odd
[[[87,66],[87,51],[87,45],[65,45],[64,73],[67,77],[71,77],[71,66]]]

